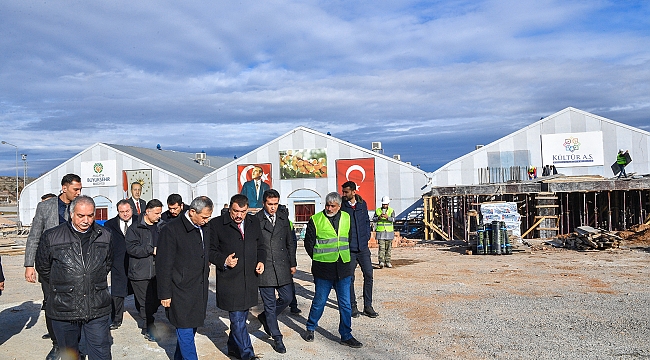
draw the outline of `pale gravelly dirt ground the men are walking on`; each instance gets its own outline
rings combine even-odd
[[[313,283],[310,260],[299,248],[296,282],[303,312],[279,318],[288,352],[275,353],[250,316],[256,353],[267,359],[650,357],[646,242],[590,252],[523,247],[509,256],[465,255],[458,245],[393,249],[395,267],[374,271],[374,307],[380,316],[353,319],[361,349],[338,343],[333,292],[315,341],[302,340]],[[41,339],[46,330],[40,287],[25,282],[22,261],[22,256],[2,257],[7,281],[0,296],[0,359],[42,359],[51,347]],[[360,304],[361,279],[357,270]],[[211,281],[214,292],[214,276]],[[151,343],[140,334],[132,297],[126,307],[123,326],[112,332],[113,358],[172,358],[175,338],[164,312],[157,314],[161,340]],[[261,305],[251,309],[252,315],[260,311]],[[490,316],[483,319],[480,313]],[[502,338],[495,339],[495,331]],[[227,334],[228,315],[215,307],[211,294],[206,324],[196,336],[200,358],[226,359]]]

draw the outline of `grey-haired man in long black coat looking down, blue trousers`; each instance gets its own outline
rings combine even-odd
[[[210,231],[214,205],[207,196],[192,200],[190,209],[160,232],[156,255],[158,297],[176,326],[174,359],[198,359],[194,335],[203,326],[208,304]]]

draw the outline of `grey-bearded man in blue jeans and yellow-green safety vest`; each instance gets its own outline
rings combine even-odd
[[[330,291],[336,291],[341,320],[341,344],[352,348],[363,346],[352,336],[352,308],[350,306],[350,216],[341,212],[341,195],[335,192],[325,197],[325,210],[313,215],[307,224],[305,250],[312,258],[314,299],[307,319],[305,341],[314,341],[314,330],[323,315]]]

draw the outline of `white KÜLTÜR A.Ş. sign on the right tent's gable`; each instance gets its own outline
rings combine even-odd
[[[542,135],[544,165],[603,166],[604,160],[602,131]]]

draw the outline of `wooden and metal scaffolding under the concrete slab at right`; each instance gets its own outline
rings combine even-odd
[[[423,196],[425,240],[465,240],[485,202],[516,202],[522,238],[548,239],[579,226],[609,231],[650,223],[650,176],[553,175],[502,184],[434,187]],[[480,215],[479,215],[480,216]],[[480,218],[479,218],[480,221]]]

